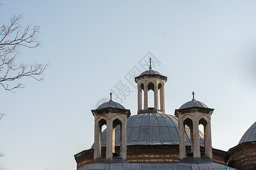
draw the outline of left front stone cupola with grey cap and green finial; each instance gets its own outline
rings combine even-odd
[[[121,163],[126,162],[126,125],[127,118],[131,115],[130,110],[121,104],[110,100],[92,110],[94,116],[94,163]],[[106,156],[101,153],[101,131],[106,125]],[[120,150],[115,153],[115,128],[120,125]]]

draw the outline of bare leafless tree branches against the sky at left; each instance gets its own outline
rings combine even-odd
[[[28,25],[23,28],[19,22],[22,15],[13,16],[10,23],[0,27],[0,84],[5,90],[12,91],[15,88],[24,88],[19,82],[24,77],[31,77],[35,80],[43,80],[43,72],[48,66],[34,63],[15,63],[19,49],[36,48],[40,45],[38,40],[39,26]],[[9,84],[13,82],[12,84]]]

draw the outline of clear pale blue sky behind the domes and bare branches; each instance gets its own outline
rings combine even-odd
[[[192,99],[212,114],[212,146],[228,151],[255,122],[256,1],[6,1],[0,26],[13,15],[40,25],[35,49],[19,62],[47,63],[44,81],[0,89],[1,170],[76,169],[73,155],[93,144],[90,110],[113,94],[137,114],[130,74],[152,69],[167,76],[166,113]],[[135,87],[134,87],[135,86]],[[115,91],[117,92],[117,91]]]

